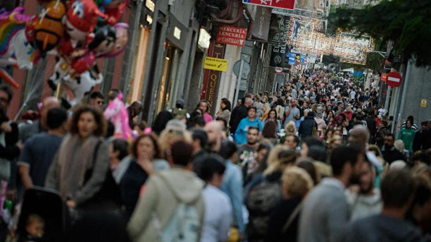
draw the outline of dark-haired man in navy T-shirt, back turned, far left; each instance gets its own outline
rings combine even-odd
[[[44,186],[48,169],[67,131],[66,111],[50,109],[47,115],[48,132],[34,134],[24,143],[18,159],[18,171],[25,189]]]

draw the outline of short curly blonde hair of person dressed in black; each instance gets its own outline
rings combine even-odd
[[[284,191],[293,198],[304,198],[313,187],[311,176],[297,166],[287,167],[281,179]]]

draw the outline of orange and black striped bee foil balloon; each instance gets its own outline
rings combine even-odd
[[[41,15],[34,27],[34,44],[45,53],[53,49],[63,37],[63,16],[66,7],[61,1],[53,0],[48,3],[46,10]]]

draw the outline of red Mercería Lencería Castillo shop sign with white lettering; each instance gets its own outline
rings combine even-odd
[[[246,36],[246,28],[222,25],[217,29],[216,43],[244,46]]]

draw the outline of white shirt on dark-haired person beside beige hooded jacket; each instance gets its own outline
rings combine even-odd
[[[204,226],[201,242],[226,241],[233,222],[229,197],[215,186],[207,184],[203,191],[205,201]]]

